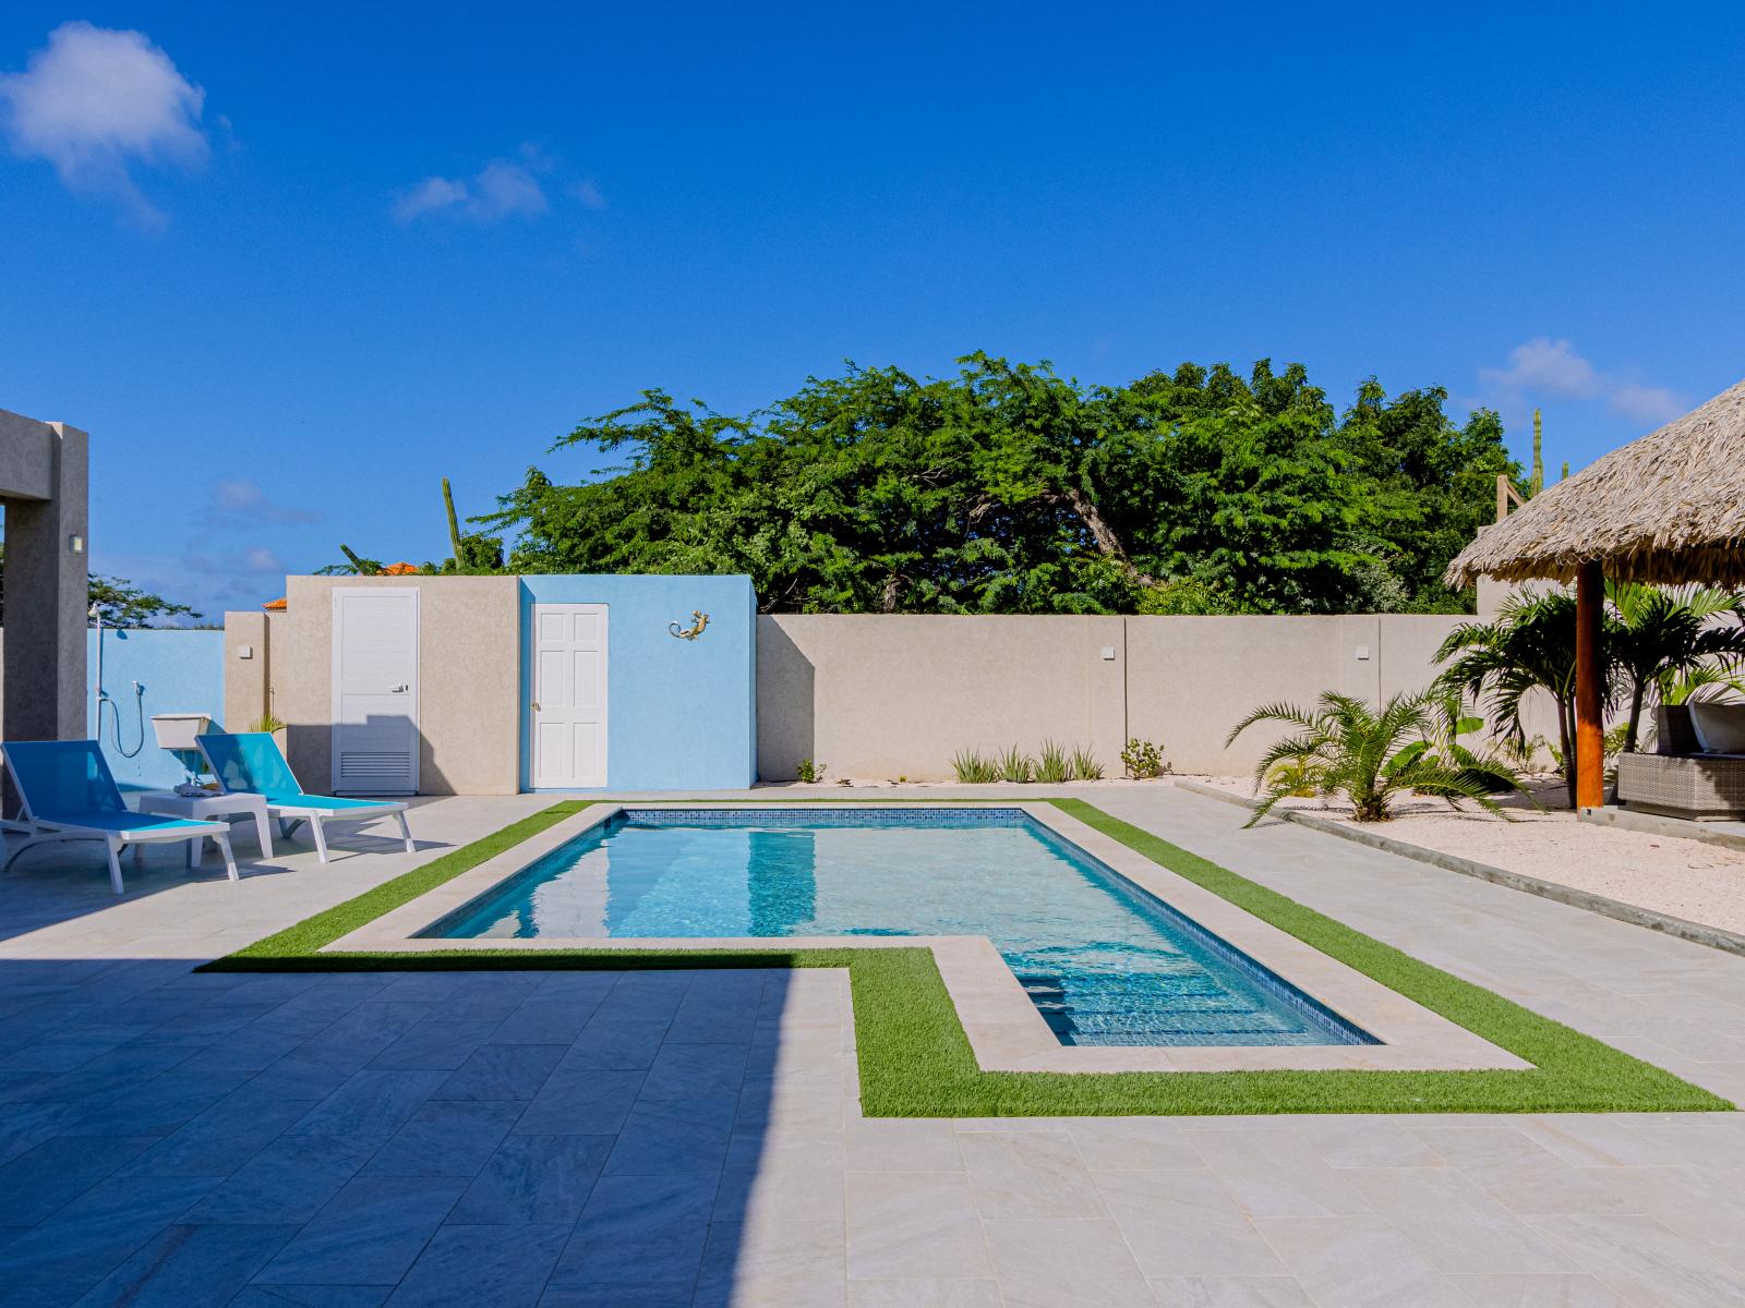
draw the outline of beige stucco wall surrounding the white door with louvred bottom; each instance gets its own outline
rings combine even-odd
[[[332,776],[335,586],[415,586],[419,595],[419,790],[511,795],[520,788],[520,582],[517,577],[288,577],[270,621],[274,712],[290,724],[304,785]],[[227,642],[229,645],[229,642]],[[229,652],[229,651],[227,651]],[[239,663],[232,659],[227,673]],[[229,710],[229,692],[225,696]]]

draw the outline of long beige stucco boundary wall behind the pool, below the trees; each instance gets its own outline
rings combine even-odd
[[[813,759],[834,778],[946,780],[961,748],[1035,753],[1052,738],[1119,776],[1122,743],[1139,736],[1180,773],[1244,773],[1276,738],[1255,727],[1225,748],[1249,710],[1309,706],[1328,689],[1372,703],[1422,689],[1459,621],[759,617],[757,771],[789,780]]]

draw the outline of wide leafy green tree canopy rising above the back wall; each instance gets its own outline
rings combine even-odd
[[[771,612],[1461,610],[1447,562],[1520,476],[1447,392],[1344,413],[1302,364],[1181,364],[1087,387],[986,354],[949,378],[857,368],[749,417],[644,391],[476,521],[513,572],[745,572]]]

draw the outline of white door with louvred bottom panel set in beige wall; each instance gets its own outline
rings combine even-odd
[[[419,788],[419,591],[333,588],[333,794]]]

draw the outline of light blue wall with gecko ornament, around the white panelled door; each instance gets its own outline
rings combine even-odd
[[[738,790],[757,778],[757,593],[750,577],[522,577],[522,705],[532,698],[534,603],[604,603],[606,783],[611,790]],[[667,624],[691,626],[696,640]],[[529,778],[525,708],[522,788]]]

